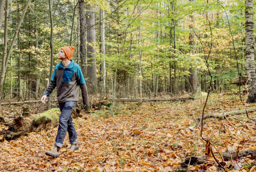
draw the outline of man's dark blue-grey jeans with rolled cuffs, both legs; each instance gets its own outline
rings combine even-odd
[[[61,110],[61,115],[59,117],[59,128],[55,139],[56,146],[62,147],[64,138],[68,131],[68,137],[72,144],[77,143],[77,133],[72,120],[72,111],[75,108],[77,102],[68,101],[65,103],[59,103],[59,109]]]

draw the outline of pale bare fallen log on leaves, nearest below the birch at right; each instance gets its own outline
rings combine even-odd
[[[248,108],[246,109],[247,110],[247,113],[250,113],[250,112],[255,112],[256,111],[256,107],[253,107],[253,108]],[[228,115],[239,115],[239,114],[246,114],[246,111],[245,109],[240,109],[240,110],[235,110],[235,111],[229,111],[229,112],[224,112],[224,114],[226,116]],[[221,120],[223,120],[225,117],[223,116],[223,113],[208,113],[208,114],[204,114],[204,119],[207,119],[207,118],[219,118]],[[189,125],[189,129],[193,129],[197,126],[197,124],[200,124],[200,122],[202,121],[202,115],[195,118],[195,121],[192,122],[190,125]]]

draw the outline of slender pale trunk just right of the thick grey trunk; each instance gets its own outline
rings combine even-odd
[[[99,35],[100,35],[100,53],[101,53],[101,64],[99,67],[99,86],[100,86],[100,97],[104,95],[104,90],[105,90],[105,81],[106,81],[106,65],[105,65],[105,20],[104,20],[104,15],[105,11],[104,9],[99,10]]]

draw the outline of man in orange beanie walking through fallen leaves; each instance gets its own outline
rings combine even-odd
[[[67,131],[71,142],[71,146],[68,150],[73,152],[79,148],[71,115],[78,101],[78,86],[81,87],[84,105],[86,106],[89,103],[87,87],[81,68],[78,64],[74,63],[73,60],[70,60],[74,49],[75,47],[61,48],[58,56],[61,62],[55,66],[49,86],[44,91],[44,95],[41,98],[42,103],[45,103],[46,97],[49,96],[57,86],[57,99],[59,109],[61,110],[59,128],[53,149],[46,152],[46,155],[53,157],[59,156],[60,148],[63,145]]]

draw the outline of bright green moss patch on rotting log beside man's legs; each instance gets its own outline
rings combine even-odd
[[[51,114],[50,111],[54,112],[54,114]],[[50,122],[52,121],[52,119],[58,120],[60,114],[57,114],[56,112],[59,112],[58,108],[52,108],[46,112],[43,112],[42,114],[40,114],[39,118],[34,119],[34,123],[36,125],[40,125],[43,122]]]

